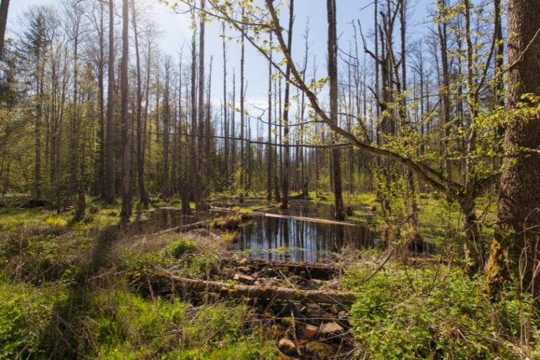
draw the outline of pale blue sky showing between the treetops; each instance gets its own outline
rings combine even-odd
[[[191,30],[189,15],[173,13],[172,10],[160,4],[158,0],[136,0],[140,6],[144,6],[145,12],[154,18],[158,23],[160,35],[157,42],[160,50],[164,54],[169,54],[173,58],[178,58],[182,46],[184,46],[184,56],[189,59],[189,49],[191,47]],[[425,0],[418,0],[419,4],[413,6],[412,13],[414,23],[423,21],[422,15],[425,13]],[[173,3],[174,0],[169,0]],[[121,1],[116,1],[117,13],[120,14]],[[12,0],[8,14],[8,36],[16,36],[18,26],[24,11],[34,5],[60,6],[60,0]],[[181,7],[182,8],[182,7]],[[185,6],[184,6],[185,8]],[[349,51],[352,39],[352,21],[361,23],[364,34],[369,34],[373,28],[373,4],[371,0],[337,0],[338,37],[340,37],[340,49]],[[307,73],[313,72],[313,56],[317,59],[317,75],[323,77],[326,73],[326,39],[327,39],[327,18],[326,0],[296,0],[295,1],[295,27],[293,32],[293,58],[295,62],[301,63],[304,49],[304,32],[309,19],[309,46],[311,59]],[[416,19],[418,18],[418,19]],[[286,21],[283,21],[285,24]],[[412,25],[413,25],[412,24]],[[119,27],[118,27],[119,28]],[[411,30],[412,31],[412,30]],[[219,104],[223,97],[223,55],[221,41],[221,24],[214,21],[207,25],[206,29],[206,59],[210,62],[213,56],[212,72],[212,103]],[[229,36],[236,36],[231,30]],[[414,33],[411,36],[415,36]],[[156,42],[156,41],[155,41]],[[368,42],[371,44],[371,42]],[[362,53],[362,52],[361,52]],[[228,62],[228,86],[232,88],[232,72],[236,72],[237,86],[240,68],[240,45],[234,41],[227,44]],[[362,53],[361,56],[364,56]],[[268,65],[266,60],[259,55],[251,44],[245,45],[245,78],[247,81],[248,107],[253,112],[258,107],[264,107],[266,103],[268,89]],[[186,63],[188,60],[186,61]],[[208,71],[208,70],[206,70]],[[237,87],[238,89],[238,87]],[[238,98],[238,95],[237,95]],[[254,114],[257,115],[257,114]]]

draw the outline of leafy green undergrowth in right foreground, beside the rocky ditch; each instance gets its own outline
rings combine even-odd
[[[506,300],[492,304],[482,281],[458,269],[394,265],[364,284],[371,271],[345,278],[359,294],[352,330],[368,359],[519,359],[523,321],[537,334],[528,298],[507,290]]]

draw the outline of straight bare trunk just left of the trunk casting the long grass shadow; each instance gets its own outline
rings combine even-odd
[[[105,201],[115,203],[115,169],[113,164],[113,114],[115,91],[115,18],[114,0],[109,0],[109,64],[107,85],[107,191]]]

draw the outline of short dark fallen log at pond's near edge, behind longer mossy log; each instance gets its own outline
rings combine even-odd
[[[333,278],[343,272],[343,266],[340,264],[277,262],[262,259],[242,259],[232,263],[238,266],[248,266],[252,271],[259,271],[264,268],[286,269],[289,274],[304,276],[307,279]]]

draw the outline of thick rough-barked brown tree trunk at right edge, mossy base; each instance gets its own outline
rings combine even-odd
[[[524,102],[522,95],[540,96],[540,6],[535,0],[508,1],[508,108]],[[507,148],[540,147],[540,118],[515,117],[506,128]],[[503,160],[497,217],[499,229],[487,264],[488,290],[501,289],[510,273],[522,274],[523,291],[539,293],[540,154]],[[508,262],[505,262],[505,258]],[[507,267],[508,266],[508,267]]]

